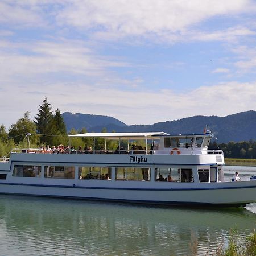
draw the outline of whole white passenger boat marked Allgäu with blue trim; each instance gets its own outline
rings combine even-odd
[[[240,207],[256,201],[256,180],[225,181],[213,134],[86,133],[92,148],[46,152],[13,150],[0,162],[0,193],[147,203]],[[95,138],[119,141],[116,151],[95,149]],[[144,140],[144,146],[135,145]],[[122,145],[126,143],[125,147]],[[149,146],[150,145],[150,146]],[[49,154],[46,154],[49,153]]]

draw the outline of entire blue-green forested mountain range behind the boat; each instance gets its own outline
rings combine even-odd
[[[76,118],[71,118],[71,113],[69,113],[69,115],[67,115],[67,113],[63,114],[67,130],[70,130],[71,127],[75,129],[85,127],[88,131],[100,132],[103,127],[106,127],[108,131],[115,130],[117,132],[164,131],[170,134],[191,134],[203,133],[205,125],[208,125],[208,129],[216,135],[218,143],[249,141],[250,139],[256,140],[256,112],[252,110],[228,115],[226,117],[205,117],[199,115],[180,120],[154,123],[153,125],[131,126],[127,126],[125,123],[115,118],[112,119],[111,117],[105,117],[105,122],[102,122],[102,116],[100,115],[76,115]],[[90,119],[86,119],[87,117],[93,117],[93,122],[90,122]],[[80,118],[81,120],[79,120]],[[76,121],[76,123],[74,121]],[[113,121],[115,122],[113,123]]]

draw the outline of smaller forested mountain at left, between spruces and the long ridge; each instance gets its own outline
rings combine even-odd
[[[112,131],[119,129],[119,127],[127,126],[118,119],[107,117],[105,115],[64,112],[62,116],[68,131],[70,131],[72,128],[79,130],[85,127],[88,131],[100,133],[102,128]]]

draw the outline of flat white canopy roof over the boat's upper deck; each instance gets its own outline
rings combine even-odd
[[[169,135],[163,131],[155,131],[148,133],[81,133],[68,135],[68,137],[101,137],[105,139],[159,139],[162,135]]]

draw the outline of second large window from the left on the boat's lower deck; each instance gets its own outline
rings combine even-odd
[[[75,179],[75,167],[44,166],[44,177],[55,179]]]

